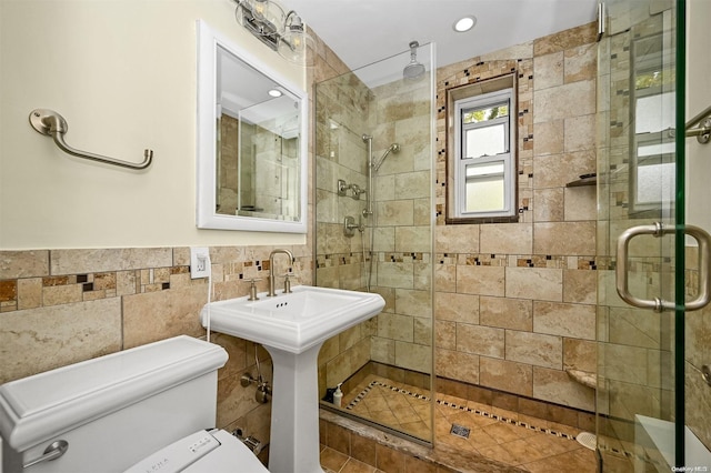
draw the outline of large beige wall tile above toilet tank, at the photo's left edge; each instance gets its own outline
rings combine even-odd
[[[121,349],[117,298],[0,316],[0,384]]]

